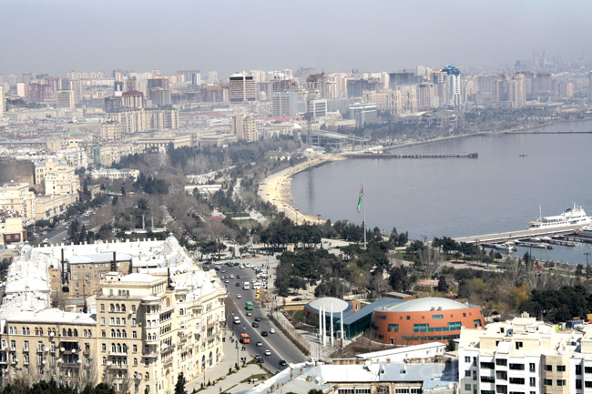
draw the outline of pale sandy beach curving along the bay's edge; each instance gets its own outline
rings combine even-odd
[[[319,166],[329,161],[343,159],[345,159],[345,157],[335,155],[311,157],[305,162],[271,174],[269,177],[263,179],[263,182],[259,185],[257,194],[260,199],[263,201],[269,201],[279,212],[283,212],[286,217],[290,218],[297,225],[302,224],[305,221],[309,223],[324,222],[324,220],[320,220],[318,217],[302,214],[297,207],[292,205],[291,177],[307,168]]]

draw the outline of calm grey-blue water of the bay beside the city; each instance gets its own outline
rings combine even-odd
[[[539,131],[587,131],[592,121]],[[469,153],[478,158],[348,159],[295,175],[293,202],[322,219],[393,227],[413,239],[477,236],[525,229],[539,216],[574,203],[592,214],[592,134],[497,134],[405,146],[395,153]],[[590,247],[534,250],[536,258],[586,263]],[[524,253],[519,250],[518,253]],[[592,261],[592,260],[591,260]]]

